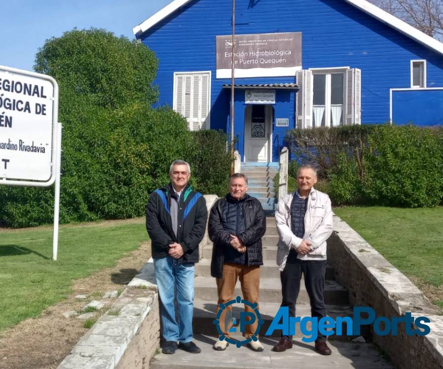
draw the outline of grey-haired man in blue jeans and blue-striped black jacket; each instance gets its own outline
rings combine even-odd
[[[198,244],[206,228],[206,201],[188,184],[190,166],[186,161],[175,160],[169,169],[169,177],[171,183],[156,189],[146,206],[146,229],[151,238],[165,341],[162,352],[173,354],[178,347],[199,353],[200,348],[192,342],[194,263],[198,262]]]

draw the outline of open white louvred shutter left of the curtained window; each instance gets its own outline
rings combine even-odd
[[[297,92],[297,128],[312,127],[312,102],[314,78],[311,70],[299,70],[296,72]]]

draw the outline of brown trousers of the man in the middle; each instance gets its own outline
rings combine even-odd
[[[218,305],[225,304],[237,296],[234,296],[235,284],[240,278],[240,283],[243,292],[243,299],[250,301],[252,304],[256,303],[258,308],[258,294],[260,288],[260,267],[248,267],[243,265],[224,263],[223,277],[217,278],[217,291],[219,293]],[[217,313],[220,307],[217,308]],[[253,312],[249,306],[245,306],[245,311]],[[227,319],[226,319],[227,317]],[[250,320],[249,317],[247,320]],[[246,332],[243,336],[250,338],[257,329],[257,319],[253,324],[246,325]],[[220,328],[223,335],[229,337],[229,329],[232,327],[232,305],[226,307],[221,313]],[[258,335],[257,335],[258,336]]]

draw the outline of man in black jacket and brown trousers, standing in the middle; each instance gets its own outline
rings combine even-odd
[[[243,298],[258,307],[260,265],[263,265],[261,237],[266,232],[266,218],[260,202],[249,196],[247,190],[248,178],[242,173],[233,174],[229,193],[214,204],[209,215],[209,237],[214,242],[211,275],[217,278],[218,309],[221,303],[233,299],[238,278]],[[245,311],[253,313],[249,306],[245,306]],[[232,307],[226,307],[220,317],[220,327],[225,337],[229,337],[231,315]],[[253,324],[246,325],[244,336],[252,338],[257,325],[257,319]],[[222,351],[227,344],[224,338],[219,339],[214,349]],[[248,345],[254,351],[263,351],[258,339]]]

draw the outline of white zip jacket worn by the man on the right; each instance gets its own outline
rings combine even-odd
[[[295,236],[291,231],[291,202],[294,193],[286,194],[277,204],[275,221],[279,233],[277,265],[285,269],[287,255],[292,248],[297,249],[303,240],[312,242],[311,251],[306,255],[298,254],[301,260],[326,260],[326,240],[332,234],[331,200],[326,193],[312,188],[308,197],[305,214],[305,235]]]

